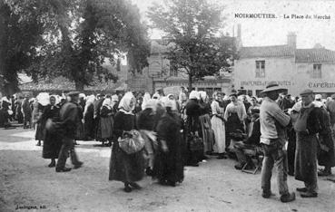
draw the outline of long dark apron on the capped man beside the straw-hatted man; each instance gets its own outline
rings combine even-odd
[[[297,147],[295,151],[296,179],[304,182],[314,182],[317,175],[317,149],[318,139],[316,135],[307,135],[297,132]]]

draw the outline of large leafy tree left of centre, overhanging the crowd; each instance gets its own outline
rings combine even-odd
[[[119,58],[127,53],[132,72],[147,65],[150,50],[146,26],[140,21],[138,8],[130,2],[83,0],[72,6],[64,0],[57,0],[58,4],[49,1],[60,36],[44,48],[36,77],[63,75],[83,91],[84,85],[91,85],[94,79],[117,80],[103,67],[105,59],[117,66]]]

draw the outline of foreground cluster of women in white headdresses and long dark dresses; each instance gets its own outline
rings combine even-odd
[[[182,120],[176,113],[176,101],[144,98],[143,111],[137,114],[133,113],[135,105],[133,93],[125,93],[114,116],[109,179],[122,181],[124,191],[131,192],[141,188],[136,181],[147,168],[147,174],[160,184],[174,187],[183,179]],[[119,141],[132,130],[140,131],[145,147],[129,154]]]

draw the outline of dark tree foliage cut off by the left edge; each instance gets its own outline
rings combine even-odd
[[[36,60],[34,46],[43,34],[40,5],[22,2],[0,0],[0,91],[5,95],[18,91],[17,73]]]

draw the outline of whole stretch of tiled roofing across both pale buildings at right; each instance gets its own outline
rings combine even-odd
[[[240,59],[294,57],[296,63],[335,63],[335,51],[325,48],[296,49],[289,45],[241,47]]]

